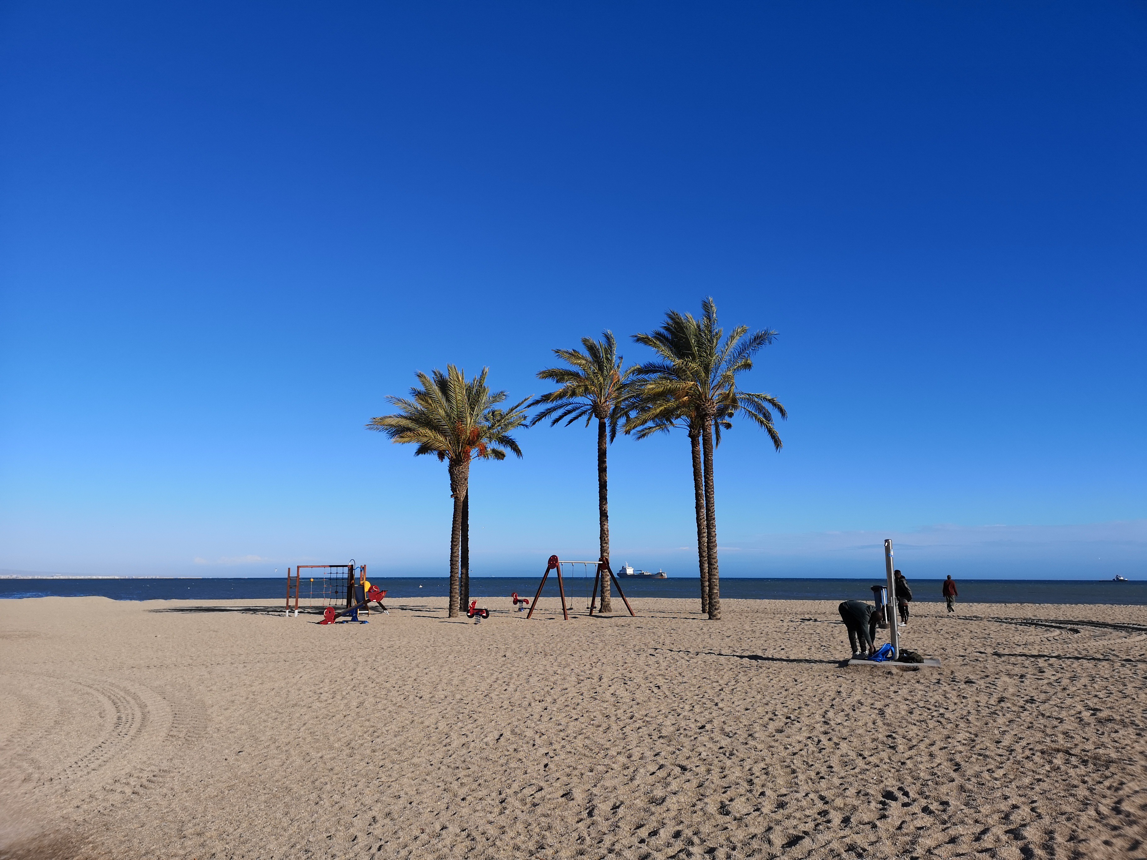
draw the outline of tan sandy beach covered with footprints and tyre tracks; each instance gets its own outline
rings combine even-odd
[[[1145,608],[484,603],[0,602],[0,857],[1147,858]]]

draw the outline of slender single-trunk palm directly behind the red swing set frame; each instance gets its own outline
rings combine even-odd
[[[607,446],[617,436],[617,423],[625,417],[626,404],[633,393],[634,368],[624,366],[617,354],[612,331],[602,333],[601,341],[582,338],[579,350],[554,350],[554,354],[569,367],[551,367],[538,372],[539,380],[548,380],[561,388],[543,394],[530,406],[543,406],[530,425],[551,419],[554,427],[565,421],[569,427],[585,419],[585,425],[598,419],[598,557],[609,564],[609,475]],[[601,579],[601,611],[612,612],[609,577]]]

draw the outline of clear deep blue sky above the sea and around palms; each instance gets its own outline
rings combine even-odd
[[[712,295],[790,411],[726,576],[1147,574],[1141,2],[10,2],[0,122],[0,568],[444,576],[384,397]],[[521,444],[475,574],[594,552],[593,431]],[[610,474],[695,574],[687,439]]]

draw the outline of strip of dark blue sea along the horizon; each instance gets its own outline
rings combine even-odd
[[[517,593],[533,599],[539,577],[474,577],[470,596],[481,600],[509,599]],[[544,597],[557,596],[557,578],[551,574]],[[387,600],[411,597],[445,597],[450,580],[445,577],[370,577],[387,591]],[[567,600],[588,604],[592,577],[565,577]],[[872,600],[871,587],[882,585],[883,577],[872,579],[751,579],[724,577],[720,595],[726,599],[756,600]],[[915,602],[943,603],[939,579],[910,580]],[[318,584],[315,584],[318,585]],[[310,581],[304,578],[299,589],[306,597]],[[1040,579],[961,579],[958,580],[960,603],[1111,603],[1147,605],[1147,583],[1111,580],[1040,580]],[[630,597],[697,597],[697,579],[623,579],[622,588]],[[65,578],[0,579],[0,599],[21,597],[109,597],[111,600],[284,600],[284,578]]]

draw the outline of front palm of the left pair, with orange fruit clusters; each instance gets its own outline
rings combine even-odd
[[[377,430],[395,443],[418,445],[414,455],[434,454],[446,462],[450,494],[454,500],[450,533],[450,617],[459,613],[461,597],[461,545],[469,497],[470,461],[505,460],[506,451],[522,456],[522,449],[509,433],[525,423],[525,400],[509,409],[496,408],[506,400],[505,391],[491,391],[486,385],[490,368],[469,382],[454,365],[446,373],[434,370],[430,376],[419,373],[421,388],[412,388],[409,398],[388,397],[398,412],[372,419],[367,430]],[[469,548],[467,548],[469,555]],[[469,558],[467,558],[467,566]]]

